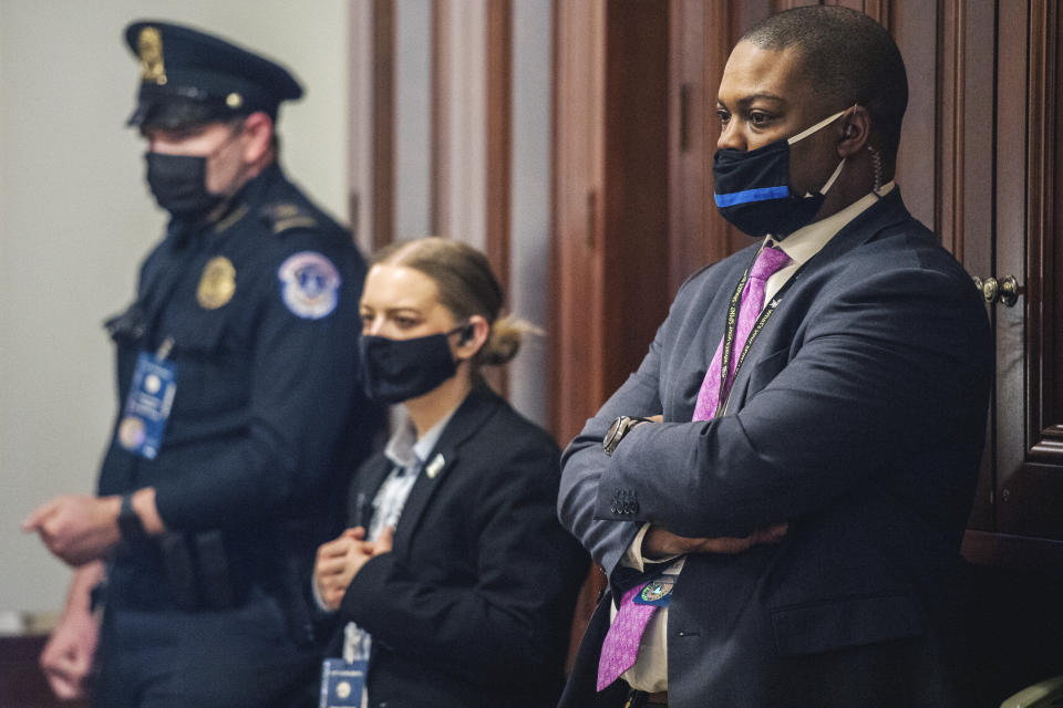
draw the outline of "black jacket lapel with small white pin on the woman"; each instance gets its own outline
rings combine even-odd
[[[443,429],[438,442],[417,475],[417,481],[410,490],[410,497],[399,519],[399,528],[395,529],[395,549],[405,548],[410,543],[429,501],[452,473],[458,460],[461,445],[482,427],[498,403],[499,398],[489,389],[474,388],[454,412],[454,417]]]

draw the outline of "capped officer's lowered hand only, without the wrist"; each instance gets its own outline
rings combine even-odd
[[[89,607],[69,606],[41,652],[41,670],[62,700],[85,697],[85,678],[92,668],[100,625]]]

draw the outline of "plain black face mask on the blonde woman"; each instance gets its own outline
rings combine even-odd
[[[457,371],[447,337],[467,327],[463,324],[450,332],[413,340],[363,334],[358,348],[365,396],[390,404],[433,391]]]

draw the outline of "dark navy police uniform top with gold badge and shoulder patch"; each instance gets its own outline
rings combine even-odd
[[[350,233],[276,164],[218,221],[172,221],[136,302],[109,322],[118,415],[100,493],[155,487],[169,529],[220,531],[221,570],[236,584],[276,585],[280,558],[312,559],[342,522],[328,492],[364,457],[374,419],[355,381],[364,273]],[[137,356],[166,340],[176,395],[157,457],[145,459],[118,430]],[[116,565],[109,602],[171,606],[157,544]]]

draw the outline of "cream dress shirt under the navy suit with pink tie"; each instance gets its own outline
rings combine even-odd
[[[775,246],[782,249],[792,262],[767,279],[764,287],[764,302],[771,302],[775,293],[786,284],[786,281],[793,277],[798,268],[818,253],[847,223],[878,199],[889,194],[892,188],[894,183],[890,181],[879,188],[877,196],[875,192],[869,192],[837,214],[794,231],[782,241],[775,241],[771,236],[766,237],[764,247]],[[780,521],[785,521],[785,519],[780,519]],[[642,539],[646,538],[649,528],[650,524],[648,523],[642,525],[631,545],[620,559],[621,564],[644,573],[649,570],[646,566],[647,563],[668,563],[668,565],[662,566],[661,572],[678,575],[682,571],[685,556],[647,559],[642,555]],[[673,562],[669,563],[669,561]],[[617,608],[613,606],[613,617],[616,613]],[[650,617],[646,632],[639,642],[638,658],[634,665],[621,675],[621,678],[638,690],[648,693],[668,690],[668,607],[661,607]]]

